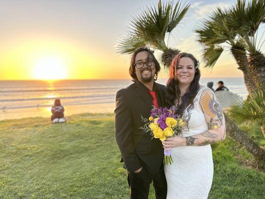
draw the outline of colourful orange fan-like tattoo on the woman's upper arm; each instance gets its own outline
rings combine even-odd
[[[223,125],[223,111],[214,94],[212,94],[212,97],[210,97],[209,94],[203,96],[202,107],[206,114],[211,118],[208,123],[209,127],[218,128],[220,125]]]

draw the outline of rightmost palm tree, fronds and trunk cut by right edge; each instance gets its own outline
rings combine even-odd
[[[239,41],[248,52],[249,70],[254,82],[256,86],[265,86],[265,56],[261,52],[264,41],[257,36],[260,24],[265,22],[265,1],[252,0],[245,5],[245,0],[238,0],[237,6],[229,9],[229,13],[229,26],[239,32]]]

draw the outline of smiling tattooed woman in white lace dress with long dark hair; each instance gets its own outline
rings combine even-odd
[[[225,120],[215,94],[199,85],[198,61],[178,54],[171,64],[166,101],[187,118],[179,135],[163,141],[173,164],[165,166],[167,199],[207,199],[213,179],[210,144],[225,139]]]

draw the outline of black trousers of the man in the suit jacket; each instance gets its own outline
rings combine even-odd
[[[128,172],[127,180],[131,188],[130,199],[148,199],[149,188],[152,181],[156,199],[167,198],[167,180],[163,164],[156,175],[151,175],[143,167],[139,173]]]

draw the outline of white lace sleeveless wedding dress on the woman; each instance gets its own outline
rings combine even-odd
[[[184,114],[190,114],[188,131],[182,130],[179,136],[188,137],[208,130],[199,99],[201,86],[193,100],[194,108],[187,107]],[[171,150],[173,164],[164,166],[168,184],[167,199],[207,199],[213,179],[213,160],[210,145],[180,146]]]

